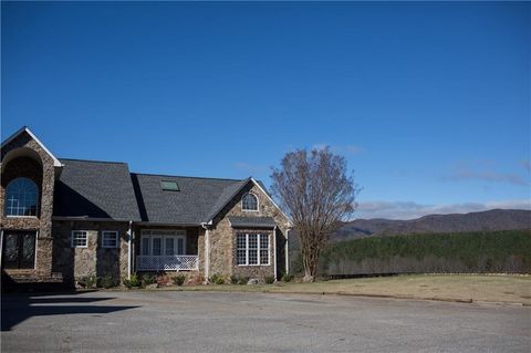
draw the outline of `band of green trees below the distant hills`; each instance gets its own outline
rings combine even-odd
[[[295,257],[292,271],[300,271]],[[531,273],[531,229],[371,237],[330,243],[321,276]]]

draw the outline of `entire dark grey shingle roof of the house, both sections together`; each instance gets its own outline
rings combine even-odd
[[[200,225],[216,217],[251,181],[136,174],[129,173],[125,163],[61,163],[64,167],[54,195],[56,217]],[[162,181],[175,181],[179,190],[163,190]],[[274,221],[253,219],[258,226],[274,226]]]

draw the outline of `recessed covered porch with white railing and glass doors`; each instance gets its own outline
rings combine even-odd
[[[199,270],[199,229],[138,229],[136,271]]]

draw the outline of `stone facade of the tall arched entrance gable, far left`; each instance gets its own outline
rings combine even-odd
[[[45,280],[52,277],[52,210],[55,167],[53,158],[28,133],[22,133],[1,150],[2,175],[0,183],[0,210],[2,230],[38,231],[35,267],[32,270],[8,270],[13,278],[19,272]],[[39,211],[37,217],[7,217],[4,208],[6,187],[18,177],[33,180],[39,187]]]

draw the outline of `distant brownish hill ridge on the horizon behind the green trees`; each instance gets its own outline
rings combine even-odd
[[[531,210],[491,209],[481,212],[429,215],[410,220],[356,219],[332,236],[332,241],[373,236],[430,232],[531,229]]]

